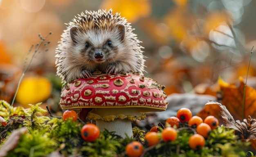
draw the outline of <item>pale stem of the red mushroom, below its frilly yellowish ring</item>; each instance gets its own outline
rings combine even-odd
[[[100,131],[107,129],[108,131],[115,131],[117,135],[125,138],[132,137],[132,121],[129,119],[115,119],[115,121],[105,122],[101,119],[96,121],[96,126],[98,126]]]

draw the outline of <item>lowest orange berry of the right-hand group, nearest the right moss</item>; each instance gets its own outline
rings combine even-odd
[[[205,139],[202,135],[195,134],[189,137],[189,147],[193,150],[199,150],[204,146]]]

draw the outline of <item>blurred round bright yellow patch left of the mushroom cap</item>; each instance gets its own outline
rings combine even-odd
[[[42,76],[31,76],[24,78],[20,84],[16,101],[24,108],[28,104],[36,104],[45,101],[52,92],[52,83]]]

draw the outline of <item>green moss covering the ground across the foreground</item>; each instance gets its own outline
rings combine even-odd
[[[0,106],[8,107],[2,101]],[[8,110],[7,110],[8,112]],[[81,157],[124,157],[125,148],[131,141],[140,141],[144,145],[144,157],[245,157],[246,146],[249,143],[241,141],[234,134],[234,130],[218,126],[212,130],[201,150],[192,150],[189,147],[189,138],[195,130],[187,125],[176,128],[177,139],[165,142],[162,139],[156,146],[147,147],[144,143],[145,131],[134,127],[134,138],[121,138],[115,132],[105,130],[94,142],[88,142],[81,137],[83,123],[73,122],[72,119],[52,118],[38,116],[39,112],[45,112],[40,108],[40,103],[31,105],[26,112],[28,117],[18,116],[8,119],[6,127],[0,126],[1,140],[4,141],[7,132],[11,132],[20,126],[28,128],[28,132],[20,137],[20,141],[14,150],[9,151],[8,157],[40,157],[58,150],[63,156]],[[164,126],[162,126],[164,127]],[[162,128],[158,132],[161,137]],[[8,137],[7,137],[8,138]],[[1,146],[2,146],[1,142]]]

